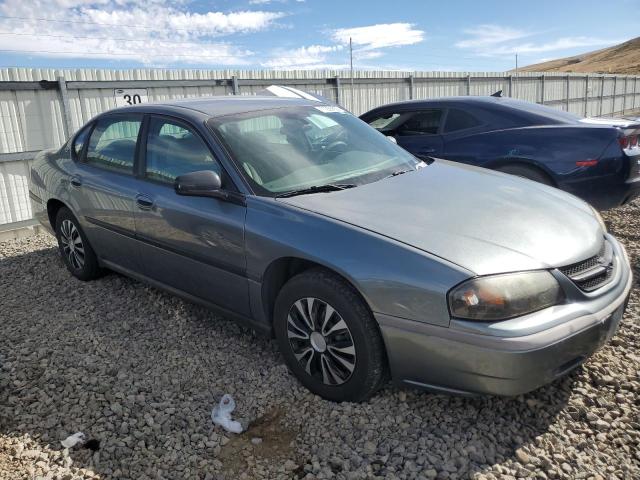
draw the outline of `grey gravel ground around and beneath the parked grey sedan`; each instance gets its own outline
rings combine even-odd
[[[606,217],[640,277],[640,203]],[[274,342],[116,274],[80,282],[54,247],[0,244],[2,479],[640,478],[637,283],[611,344],[533,393],[338,405]],[[248,432],[213,426],[225,392]],[[76,431],[95,451],[61,447]]]

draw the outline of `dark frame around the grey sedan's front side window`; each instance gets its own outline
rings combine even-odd
[[[190,132],[192,132],[194,135],[196,135],[202,141],[203,145],[209,150],[211,157],[218,163],[218,166],[220,167],[220,173],[221,173],[220,179],[222,180],[222,189],[227,192],[234,192],[234,193],[239,192],[237,186],[235,185],[235,182],[233,181],[233,178],[227,172],[227,169],[225,168],[223,162],[220,161],[220,158],[218,158],[218,155],[216,155],[214,149],[211,148],[211,145],[209,144],[207,139],[202,135],[202,133],[200,133],[200,131],[195,127],[195,125],[193,125],[191,122],[183,118],[175,117],[173,115],[167,115],[164,113],[149,113],[145,115],[145,121],[142,125],[142,128],[140,129],[140,133],[142,137],[140,137],[139,139],[138,151],[137,151],[138,162],[136,164],[137,168],[135,169],[135,174],[137,178],[139,178],[144,182],[150,182],[156,185],[162,185],[174,190],[174,184],[172,183],[163,182],[161,180],[155,180],[153,178],[147,177],[147,143],[149,140],[149,125],[151,124],[151,120],[153,118],[174,123],[179,127],[185,128]]]

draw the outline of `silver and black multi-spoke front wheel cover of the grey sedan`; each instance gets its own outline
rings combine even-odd
[[[351,377],[356,366],[351,331],[328,303],[307,297],[291,305],[287,337],[307,374],[326,385],[341,385]]]

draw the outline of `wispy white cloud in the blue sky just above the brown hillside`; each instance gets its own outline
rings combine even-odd
[[[519,40],[538,35],[538,33],[499,25],[480,25],[476,28],[463,30],[463,33],[469,38],[456,42],[455,46],[470,50],[480,57],[553,52],[579,47],[605,46],[620,42],[620,40],[598,37],[561,37],[542,43],[531,41],[523,43]]]

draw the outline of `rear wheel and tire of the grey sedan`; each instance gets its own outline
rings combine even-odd
[[[80,228],[78,219],[67,207],[58,210],[55,232],[62,261],[74,277],[88,281],[102,275],[98,257]]]

